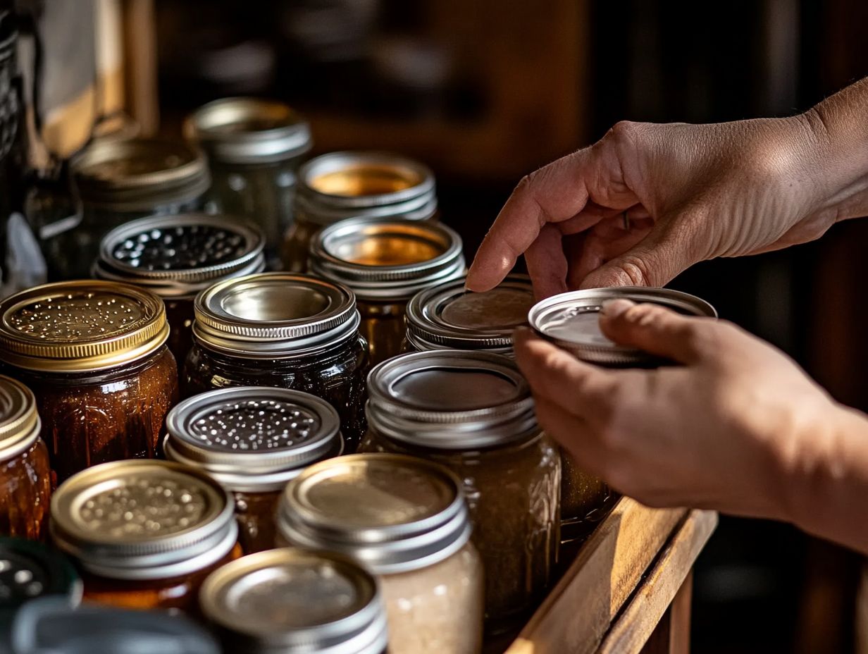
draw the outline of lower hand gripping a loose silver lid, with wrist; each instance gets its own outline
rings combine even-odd
[[[648,505],[789,520],[868,552],[868,419],[730,323],[617,300],[601,327],[682,365],[605,369],[516,333],[540,423],[580,467]]]

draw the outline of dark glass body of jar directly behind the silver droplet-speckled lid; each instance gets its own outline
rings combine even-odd
[[[367,343],[360,335],[315,355],[247,359],[193,344],[182,375],[184,397],[227,386],[276,386],[305,391],[331,404],[340,416],[345,453],[365,433]]]

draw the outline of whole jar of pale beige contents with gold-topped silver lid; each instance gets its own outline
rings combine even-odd
[[[473,654],[482,645],[483,569],[461,482],[391,454],[314,464],[286,486],[278,545],[355,558],[379,578],[390,654]]]

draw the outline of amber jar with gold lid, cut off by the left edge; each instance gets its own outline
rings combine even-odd
[[[0,375],[0,533],[41,539],[51,495],[49,452],[30,389]]]

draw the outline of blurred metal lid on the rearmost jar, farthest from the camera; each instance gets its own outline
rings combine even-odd
[[[283,102],[227,97],[196,109],[184,135],[217,162],[269,163],[305,154],[312,146],[307,121]]]

